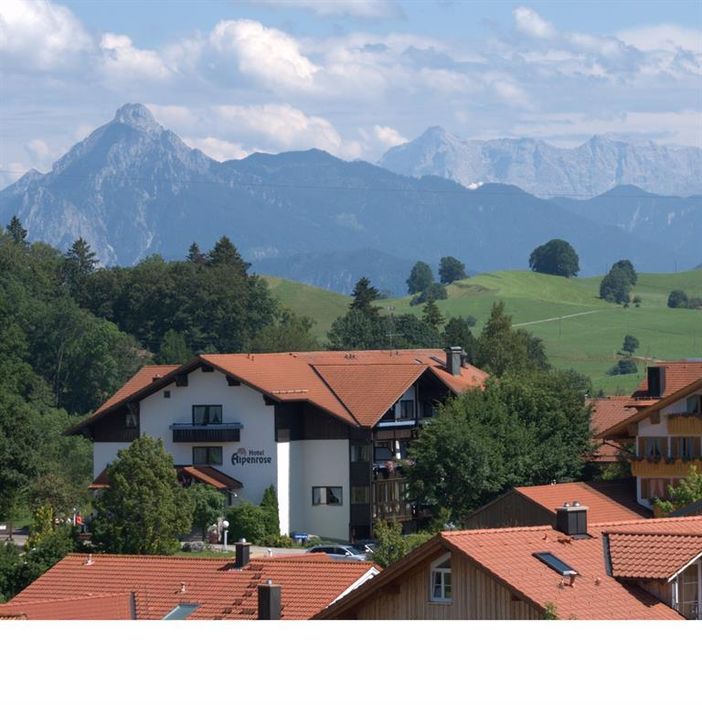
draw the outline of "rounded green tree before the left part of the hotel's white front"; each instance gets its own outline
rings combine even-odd
[[[108,553],[174,553],[192,528],[193,506],[160,439],[142,436],[108,465],[96,501],[93,541]]]

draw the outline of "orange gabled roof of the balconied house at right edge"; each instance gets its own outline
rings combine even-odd
[[[652,366],[665,368],[664,396],[659,399],[645,398],[648,394],[648,381],[644,380],[631,396],[631,404],[634,406],[636,413],[615,422],[609,428],[602,429],[596,434],[596,437],[617,438],[626,436],[628,435],[627,429],[631,424],[638,423],[673,402],[702,390],[702,362],[660,362]],[[640,397],[644,397],[644,399],[640,399]]]

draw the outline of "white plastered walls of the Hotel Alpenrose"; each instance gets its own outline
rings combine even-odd
[[[191,424],[193,405],[221,405],[222,422],[242,425],[239,442],[176,443],[174,423]],[[245,384],[229,386],[217,370],[197,368],[188,374],[187,386],[175,382],[140,401],[142,436],[160,438],[175,465],[193,464],[193,447],[222,448],[221,472],[243,484],[238,500],[259,504],[264,490],[273,485],[279,504],[280,530],[306,531],[325,538],[349,535],[349,442],[348,440],[303,440],[277,443],[275,408],[261,392]],[[129,443],[95,442],[94,476],[117,457]],[[313,487],[341,487],[342,503],[312,504]]]

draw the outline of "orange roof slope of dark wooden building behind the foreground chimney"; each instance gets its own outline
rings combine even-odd
[[[650,517],[651,512],[636,502],[630,480],[607,482],[563,482],[556,485],[515,487],[515,492],[553,512],[564,502],[577,500],[586,506],[588,523],[630,521]]]

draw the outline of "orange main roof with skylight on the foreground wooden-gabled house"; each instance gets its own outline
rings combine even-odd
[[[571,539],[551,526],[444,531],[317,617],[343,617],[443,549],[460,552],[536,609],[555,605],[561,619],[683,619],[643,589],[608,574],[603,537],[614,531],[676,535],[684,544],[690,533],[702,532],[702,517],[590,524],[586,539]],[[543,552],[576,571],[572,585],[534,556]]]

